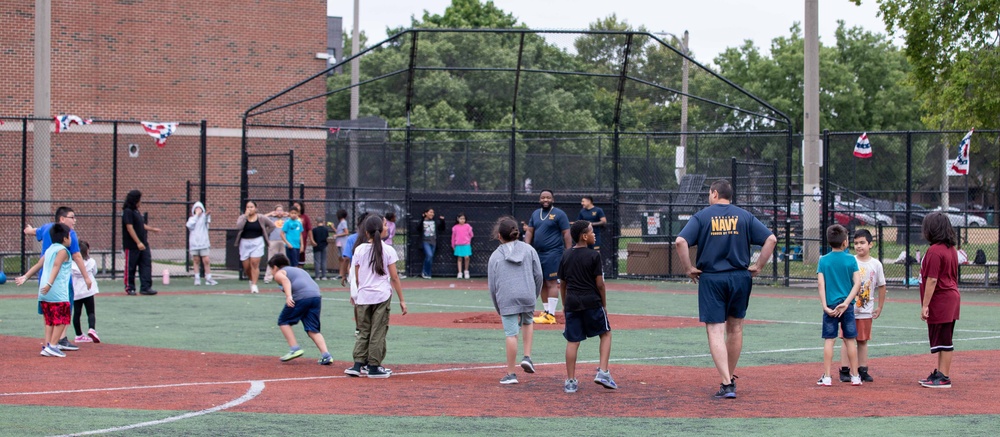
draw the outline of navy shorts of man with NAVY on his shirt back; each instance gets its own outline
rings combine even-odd
[[[725,323],[729,317],[746,317],[752,288],[748,270],[702,273],[698,280],[698,320]]]

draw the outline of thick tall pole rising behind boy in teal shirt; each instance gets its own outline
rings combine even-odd
[[[820,212],[818,202],[806,202],[805,194],[819,187],[819,163],[822,157],[819,142],[819,0],[805,0],[805,94],[803,95],[802,145],[802,226],[803,260],[814,264],[819,260]],[[823,193],[830,196],[830,193]],[[808,205],[808,206],[807,206]]]

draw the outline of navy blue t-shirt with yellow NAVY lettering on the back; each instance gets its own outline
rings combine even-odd
[[[750,246],[763,245],[771,230],[743,208],[717,203],[691,216],[678,236],[698,247],[698,270],[718,273],[746,270]]]

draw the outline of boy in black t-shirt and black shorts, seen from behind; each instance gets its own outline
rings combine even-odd
[[[566,330],[563,337],[566,345],[566,382],[563,390],[573,393],[579,388],[576,380],[576,354],[580,342],[599,336],[601,339],[601,363],[597,368],[594,382],[605,388],[616,389],[618,385],[611,378],[608,360],[611,356],[611,325],[608,323],[607,295],[604,290],[604,271],[601,268],[601,254],[587,246],[597,238],[594,228],[586,220],[577,220],[570,227],[570,236],[575,245],[563,253],[559,264],[559,294],[563,300]]]

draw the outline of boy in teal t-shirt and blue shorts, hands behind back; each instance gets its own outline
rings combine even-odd
[[[833,345],[837,341],[838,327],[844,333],[844,348],[851,363],[851,385],[861,385],[858,375],[858,337],[854,321],[854,297],[861,288],[858,261],[847,253],[847,229],[833,225],[826,229],[826,240],[833,249],[819,259],[816,267],[819,302],[823,305],[823,376],[816,385],[829,387],[830,367],[833,364]]]

